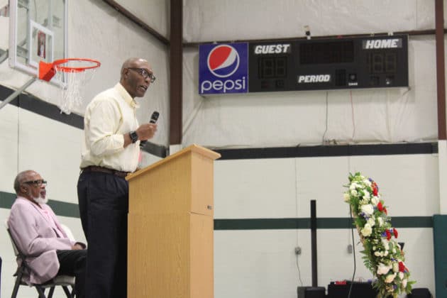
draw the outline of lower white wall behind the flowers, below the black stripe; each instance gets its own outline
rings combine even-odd
[[[310,200],[315,199],[317,217],[347,218],[343,185],[348,183],[348,173],[356,171],[379,184],[391,217],[432,216],[439,211],[437,162],[437,155],[216,160],[214,217],[309,218]],[[428,287],[434,293],[431,228],[398,231],[415,287]],[[351,230],[326,228],[316,233],[319,286],[350,280],[354,266],[353,254],[347,252]],[[372,275],[363,265],[356,230],[354,236],[355,280],[369,280]],[[308,229],[215,231],[215,297],[297,297],[297,286],[311,285],[310,237]],[[302,248],[298,260],[297,245]]]

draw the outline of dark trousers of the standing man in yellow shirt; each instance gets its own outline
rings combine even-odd
[[[88,243],[86,297],[126,298],[128,182],[82,172],[77,197]]]

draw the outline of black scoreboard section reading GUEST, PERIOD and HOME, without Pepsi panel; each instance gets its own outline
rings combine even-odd
[[[407,35],[248,43],[248,92],[408,87]]]

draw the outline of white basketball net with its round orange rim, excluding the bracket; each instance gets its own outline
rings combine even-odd
[[[92,62],[73,60],[60,66],[86,67],[92,66]],[[59,82],[61,90],[61,96],[58,96],[57,106],[59,106],[61,113],[70,114],[75,107],[82,105],[83,98],[81,90],[85,87],[85,84],[93,78],[96,68],[82,71],[67,71],[61,70],[60,67],[55,66],[55,71],[55,79]]]

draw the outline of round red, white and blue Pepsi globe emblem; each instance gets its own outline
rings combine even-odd
[[[218,45],[208,55],[208,69],[216,77],[229,77],[239,67],[238,51],[231,45]]]

